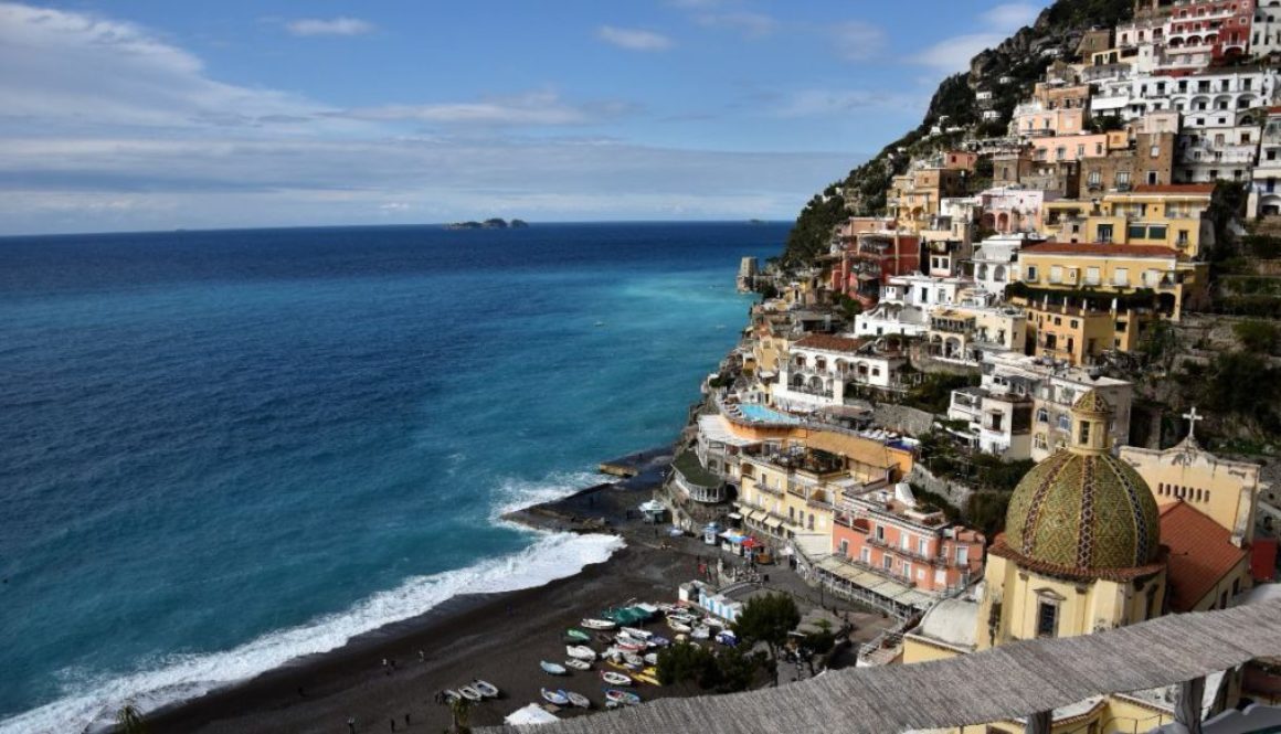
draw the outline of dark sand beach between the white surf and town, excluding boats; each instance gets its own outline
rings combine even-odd
[[[652,451],[652,450],[651,450]],[[651,451],[638,452],[647,455]],[[634,455],[635,456],[635,455]],[[605,478],[602,475],[602,478]],[[502,716],[537,702],[538,685],[548,680],[556,685],[576,685],[582,693],[603,706],[600,681],[592,674],[578,673],[565,679],[543,676],[537,662],[523,666],[525,679],[507,680],[506,666],[475,662],[478,673],[459,678],[456,671],[469,666],[466,652],[459,649],[462,640],[478,637],[493,638],[483,648],[516,648],[521,646],[514,637],[543,633],[537,646],[547,660],[561,661],[565,655],[559,630],[573,626],[578,619],[596,614],[600,608],[623,603],[630,598],[675,598],[675,585],[666,582],[679,566],[688,564],[689,556],[679,550],[662,550],[642,537],[643,528],[626,518],[633,505],[649,497],[653,468],[628,479],[614,479],[584,487],[573,494],[523,507],[502,515],[541,533],[605,534],[621,538],[626,546],[607,560],[588,564],[574,574],[524,589],[493,593],[462,593],[425,612],[405,620],[388,623],[352,637],[342,646],[296,657],[265,670],[250,679],[220,685],[202,696],[163,706],[147,712],[149,731],[279,731],[325,728],[345,730],[348,716],[357,722],[369,722],[368,730],[389,730],[389,715],[374,714],[373,699],[380,701],[379,710],[395,708],[397,730],[441,730],[450,724],[448,710],[433,703],[433,693],[443,688],[456,688],[471,678],[491,680],[503,690],[496,702],[485,702],[473,710],[473,725],[502,724]],[[690,566],[687,566],[692,569]],[[693,570],[687,575],[693,578]],[[655,594],[658,594],[657,597]],[[552,623],[547,616],[556,614],[562,598],[582,598],[580,608],[560,612],[564,623]],[[542,612],[537,610],[544,610]],[[553,611],[556,610],[556,611]],[[519,617],[512,629],[512,617]],[[556,626],[559,625],[559,626]],[[533,642],[533,640],[530,640]],[[418,660],[423,651],[425,661]],[[533,652],[533,651],[530,651]],[[559,657],[556,657],[559,656]],[[497,658],[509,657],[501,651]],[[525,657],[525,656],[523,656]],[[382,661],[396,661],[396,670],[386,673]],[[591,679],[585,678],[592,675]],[[414,692],[404,690],[405,681],[414,683]],[[397,692],[396,689],[401,689]],[[657,693],[656,689],[644,693]],[[593,696],[594,694],[594,696]],[[649,696],[647,696],[648,698]],[[391,702],[395,706],[388,708]],[[405,711],[400,711],[404,708]],[[351,710],[350,712],[345,712]],[[496,714],[497,712],[497,714]],[[410,714],[410,728],[404,726],[404,714]],[[580,715],[579,710],[565,712]],[[357,731],[366,730],[357,726]]]

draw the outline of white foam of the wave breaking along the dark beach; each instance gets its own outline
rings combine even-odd
[[[564,484],[561,487],[565,493]],[[510,498],[518,502],[515,496]],[[526,501],[512,509],[528,505]],[[126,701],[133,701],[143,711],[154,711],[196,698],[297,657],[334,649],[359,634],[418,616],[464,592],[507,592],[570,576],[587,565],[607,560],[623,546],[623,539],[615,535],[541,534],[518,553],[409,578],[400,587],[377,593],[345,612],[277,630],[233,649],[174,655],[151,670],[114,678],[77,675],[79,681],[69,687],[65,697],[0,721],[0,734],[102,730],[114,721],[115,711]]]

